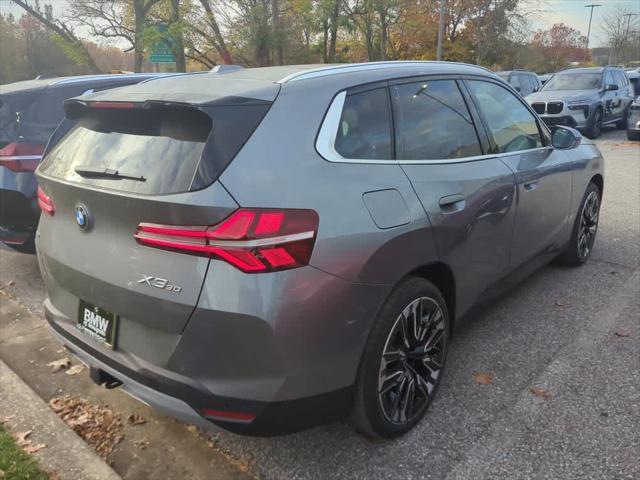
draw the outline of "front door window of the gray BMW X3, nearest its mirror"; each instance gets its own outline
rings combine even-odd
[[[515,95],[491,82],[470,80],[468,85],[489,129],[493,153],[542,147],[535,117]]]

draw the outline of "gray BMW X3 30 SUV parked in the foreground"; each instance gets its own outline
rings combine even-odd
[[[46,317],[92,378],[274,435],[424,416],[453,327],[580,265],[603,160],[479,67],[269,67],[66,103],[37,174]]]

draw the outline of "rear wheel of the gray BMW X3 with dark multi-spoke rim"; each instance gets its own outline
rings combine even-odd
[[[442,378],[449,333],[447,305],[435,285],[409,277],[395,288],[360,362],[351,416],[356,430],[393,438],[420,422]]]

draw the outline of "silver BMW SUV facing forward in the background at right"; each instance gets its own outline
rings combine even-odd
[[[573,68],[556,73],[527,101],[548,125],[566,125],[589,138],[603,125],[626,128],[633,87],[617,67]]]

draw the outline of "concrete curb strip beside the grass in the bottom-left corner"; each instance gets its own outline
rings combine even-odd
[[[34,456],[43,469],[63,480],[122,480],[78,435],[0,359],[0,413],[10,431],[33,433],[46,448]]]

